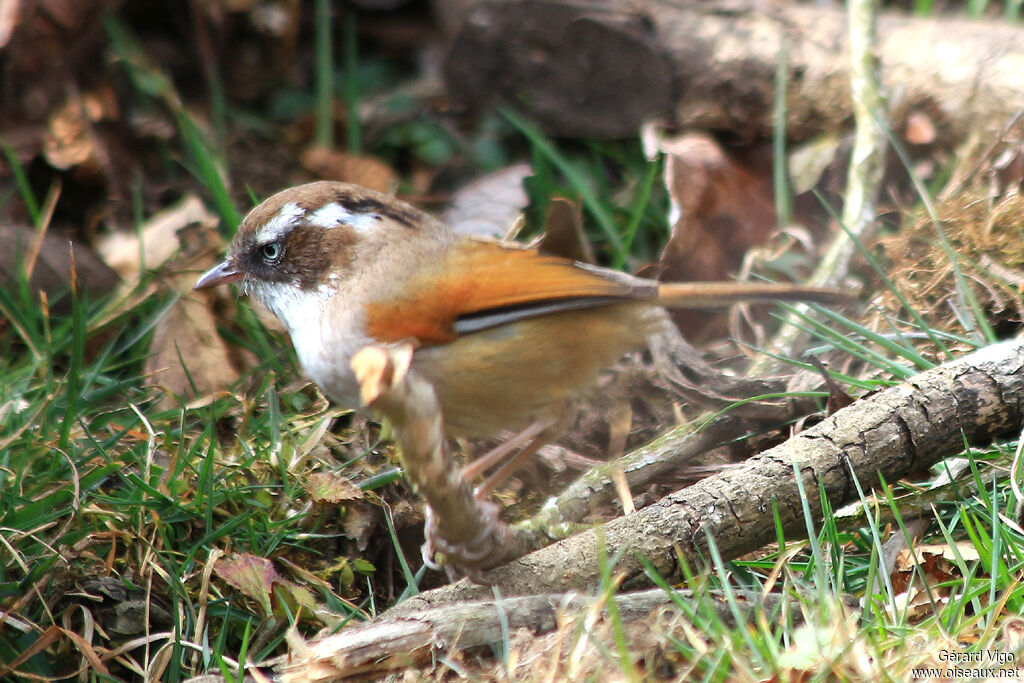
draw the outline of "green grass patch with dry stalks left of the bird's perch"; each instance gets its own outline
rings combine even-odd
[[[259,647],[251,654],[265,657],[284,637],[282,628],[268,632],[268,618],[322,626],[323,618],[310,612],[289,614],[287,600],[261,611],[252,595],[211,590],[203,567],[220,551],[287,555],[306,557],[306,568],[319,567],[322,579],[334,580],[338,590],[356,583],[350,568],[347,580],[342,575],[341,558],[326,557],[317,547],[337,533],[330,518],[316,519],[308,506],[296,506],[306,497],[306,472],[291,466],[324,407],[310,404],[304,393],[283,392],[270,373],[250,397],[161,408],[161,392],[139,377],[147,338],[135,328],[162,302],[123,311],[106,326],[109,341],[88,352],[87,330],[100,311],[85,301],[74,303],[62,318],[0,294],[0,309],[20,337],[8,337],[4,357],[11,360],[2,369],[0,394],[0,530],[8,551],[0,561],[0,594],[8,608],[16,606],[0,635],[0,660],[14,661],[29,650],[45,624],[81,627],[71,609],[77,599],[65,597],[67,592],[91,595],[97,608],[112,608],[104,607],[110,601],[102,592],[90,588],[105,577],[119,578],[128,591],[152,599],[153,609],[174,617],[160,624],[174,650],[170,680],[193,670],[185,644],[209,657],[210,643],[219,643],[220,656],[238,652],[236,638],[255,629],[253,644]],[[225,428],[238,436],[223,438]],[[276,585],[291,583],[282,579]],[[209,593],[200,604],[201,586]],[[350,603],[331,586],[317,583],[307,590],[336,609]],[[339,609],[338,618],[359,613],[348,609]],[[45,677],[67,674],[58,663],[77,660],[85,649],[80,645],[49,661],[37,655],[17,669]],[[127,656],[121,665],[135,671],[152,672],[158,664],[157,657],[132,655],[129,663]],[[200,670],[211,665],[208,658]]]

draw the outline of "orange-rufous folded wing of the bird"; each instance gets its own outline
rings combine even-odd
[[[442,344],[456,338],[454,325],[462,316],[556,299],[593,297],[595,304],[607,304],[633,295],[629,284],[567,259],[465,240],[446,258],[414,273],[401,296],[368,306],[367,333],[382,342]]]

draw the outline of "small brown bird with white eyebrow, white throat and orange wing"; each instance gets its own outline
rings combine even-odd
[[[412,344],[450,436],[511,431],[463,469],[486,496],[567,429],[601,370],[668,324],[671,307],[839,303],[812,286],[662,283],[456,232],[394,197],[343,182],[281,190],[242,221],[195,290],[239,283],[288,331],[303,372],[359,408],[350,366],[368,346]]]

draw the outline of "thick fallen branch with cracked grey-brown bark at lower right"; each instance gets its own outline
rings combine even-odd
[[[863,398],[745,463],[676,492],[627,517],[542,548],[487,574],[504,595],[581,590],[598,581],[598,556],[622,553],[626,585],[645,583],[640,558],[668,581],[681,577],[678,555],[698,561],[715,539],[726,560],[775,539],[772,506],[787,538],[803,537],[805,490],[821,486],[834,508],[972,445],[1019,435],[1024,423],[1024,341],[993,344]],[[808,501],[820,516],[818,496]],[[604,549],[603,551],[601,549]],[[623,552],[625,551],[625,552]],[[460,581],[394,608],[485,597],[489,589]]]

